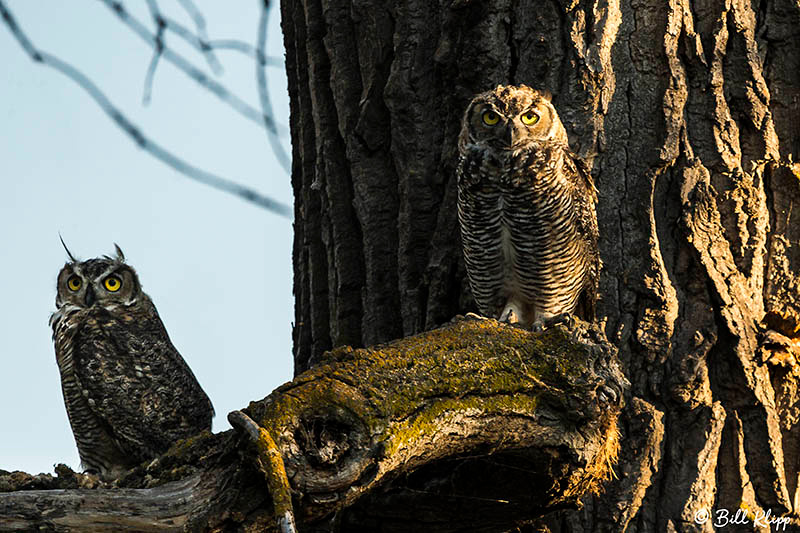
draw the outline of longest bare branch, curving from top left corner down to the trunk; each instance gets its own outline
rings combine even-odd
[[[264,209],[272,211],[278,215],[291,218],[291,208],[286,204],[264,196],[255,190],[250,189],[249,187],[239,185],[238,183],[197,168],[147,138],[136,125],[128,120],[128,118],[125,117],[125,115],[123,115],[122,112],[111,103],[111,101],[106,97],[105,94],[103,94],[97,85],[95,85],[82,72],[55,56],[52,56],[46,52],[42,52],[41,50],[37,50],[19,25],[17,25],[14,17],[6,8],[2,0],[0,0],[0,14],[2,14],[3,21],[5,22],[6,26],[8,26],[12,35],[14,35],[20,46],[22,46],[22,48],[25,50],[25,52],[27,52],[33,61],[54,68],[77,83],[89,94],[89,96],[92,97],[92,99],[100,106],[100,108],[114,122],[116,122],[117,125],[136,142],[136,144],[139,145],[140,148],[150,152],[150,154],[152,154],[154,157],[160,159],[188,178],[215,189],[238,196],[239,198],[247,200],[248,202],[256,204],[259,207],[263,207]]]

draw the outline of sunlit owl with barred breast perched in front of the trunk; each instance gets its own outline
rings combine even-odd
[[[458,218],[480,312],[526,327],[594,319],[597,193],[548,95],[477,95],[458,139]]]

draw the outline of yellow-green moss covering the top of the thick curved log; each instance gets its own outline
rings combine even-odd
[[[543,393],[552,400],[566,390],[580,392],[589,356],[589,349],[562,328],[534,334],[494,320],[466,320],[381,346],[337,348],[326,356],[328,364],[305,372],[248,411],[280,436],[284,428],[297,427],[305,413],[344,410],[368,434],[387,432],[384,439],[402,446],[424,435],[448,410],[532,412]],[[437,398],[446,399],[431,402]],[[424,414],[407,423],[401,435],[385,427],[421,408]]]

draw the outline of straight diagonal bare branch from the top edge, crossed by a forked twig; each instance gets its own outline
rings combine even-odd
[[[127,11],[127,9],[125,9],[125,6],[122,4],[122,2],[115,2],[113,0],[100,1],[103,2],[117,16],[117,18],[120,19],[120,21],[133,30],[134,33],[136,33],[143,41],[155,48],[155,35],[150,33],[144,24],[133,17]],[[247,102],[231,93],[221,83],[209,78],[203,71],[192,65],[192,63],[183,56],[176,53],[168,46],[165,46],[162,50],[162,56],[164,59],[175,65],[179,70],[183,71],[187,76],[195,80],[198,84],[200,84],[201,87],[211,91],[220,100],[230,105],[239,114],[258,124],[259,126],[264,126],[262,113],[259,112],[258,109],[252,107]]]

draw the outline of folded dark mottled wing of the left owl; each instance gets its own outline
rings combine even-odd
[[[211,429],[214,410],[155,307],[120,314],[98,310],[83,325],[75,376],[120,449],[143,460]]]

